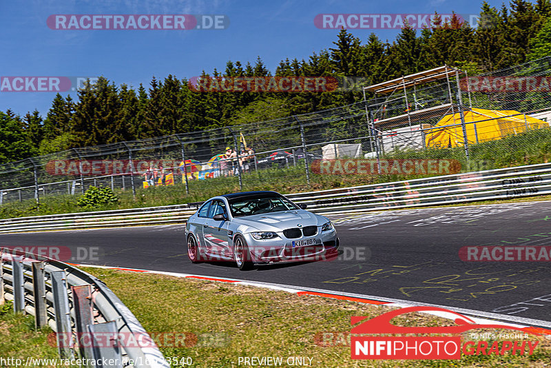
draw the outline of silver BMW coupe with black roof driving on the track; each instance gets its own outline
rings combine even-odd
[[[187,255],[193,263],[229,260],[242,270],[332,258],[339,247],[333,223],[305,208],[268,191],[210,198],[187,220]]]

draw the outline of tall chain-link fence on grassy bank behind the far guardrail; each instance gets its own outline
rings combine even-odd
[[[194,192],[206,183],[253,190],[276,181],[315,187],[327,174],[365,174],[366,181],[408,174],[382,170],[381,160],[391,159],[453,159],[461,172],[547,162],[550,72],[551,57],[477,76],[446,67],[445,78],[404,77],[383,96],[331,110],[6,163],[0,204],[92,185],[134,194],[156,185]],[[320,170],[329,167],[322,161],[349,158],[377,164],[364,172]]]

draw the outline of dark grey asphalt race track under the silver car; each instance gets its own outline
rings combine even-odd
[[[476,309],[551,326],[551,261],[466,262],[476,245],[551,245],[551,202],[411,209],[334,217],[331,261],[240,272],[187,258],[183,225],[0,235],[0,245],[67,246],[75,263],[240,278]],[[77,249],[79,247],[79,249]],[[90,257],[92,255],[92,257]]]

